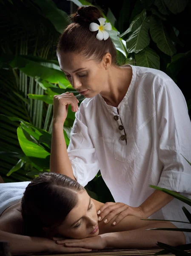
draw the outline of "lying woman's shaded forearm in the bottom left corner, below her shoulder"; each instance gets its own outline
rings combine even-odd
[[[0,230],[0,240],[8,241],[11,253],[48,252],[47,239],[40,237],[21,236]]]

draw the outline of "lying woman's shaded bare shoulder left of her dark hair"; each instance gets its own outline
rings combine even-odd
[[[14,234],[24,234],[20,203],[11,206],[0,216],[0,230]]]

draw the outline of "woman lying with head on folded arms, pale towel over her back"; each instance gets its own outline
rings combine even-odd
[[[11,253],[156,247],[157,241],[185,244],[182,232],[145,230],[174,228],[171,222],[128,215],[116,226],[112,220],[98,224],[97,210],[102,205],[75,180],[53,172],[31,182],[1,183],[0,240],[10,242]]]

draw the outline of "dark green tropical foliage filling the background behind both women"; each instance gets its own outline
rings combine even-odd
[[[177,17],[188,17],[191,3],[176,0],[173,5],[172,1],[124,0],[119,19],[110,8],[103,15],[112,24],[110,37],[118,64],[160,69],[178,84],[191,51],[186,43],[189,26],[185,29]],[[85,0],[72,2],[91,5]],[[80,102],[83,100],[61,72],[55,55],[57,39],[70,20],[53,0],[1,0],[0,5],[0,175],[6,182],[30,180],[39,172],[49,171],[53,96],[72,91]],[[188,99],[189,94],[185,94]],[[69,108],[63,130],[67,145],[74,118]],[[113,201],[100,173],[87,188],[100,201]]]

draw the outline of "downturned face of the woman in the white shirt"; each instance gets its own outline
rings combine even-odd
[[[104,90],[108,78],[105,57],[100,63],[74,52],[58,53],[57,57],[60,69],[66,74],[72,87],[86,98],[92,98]]]

